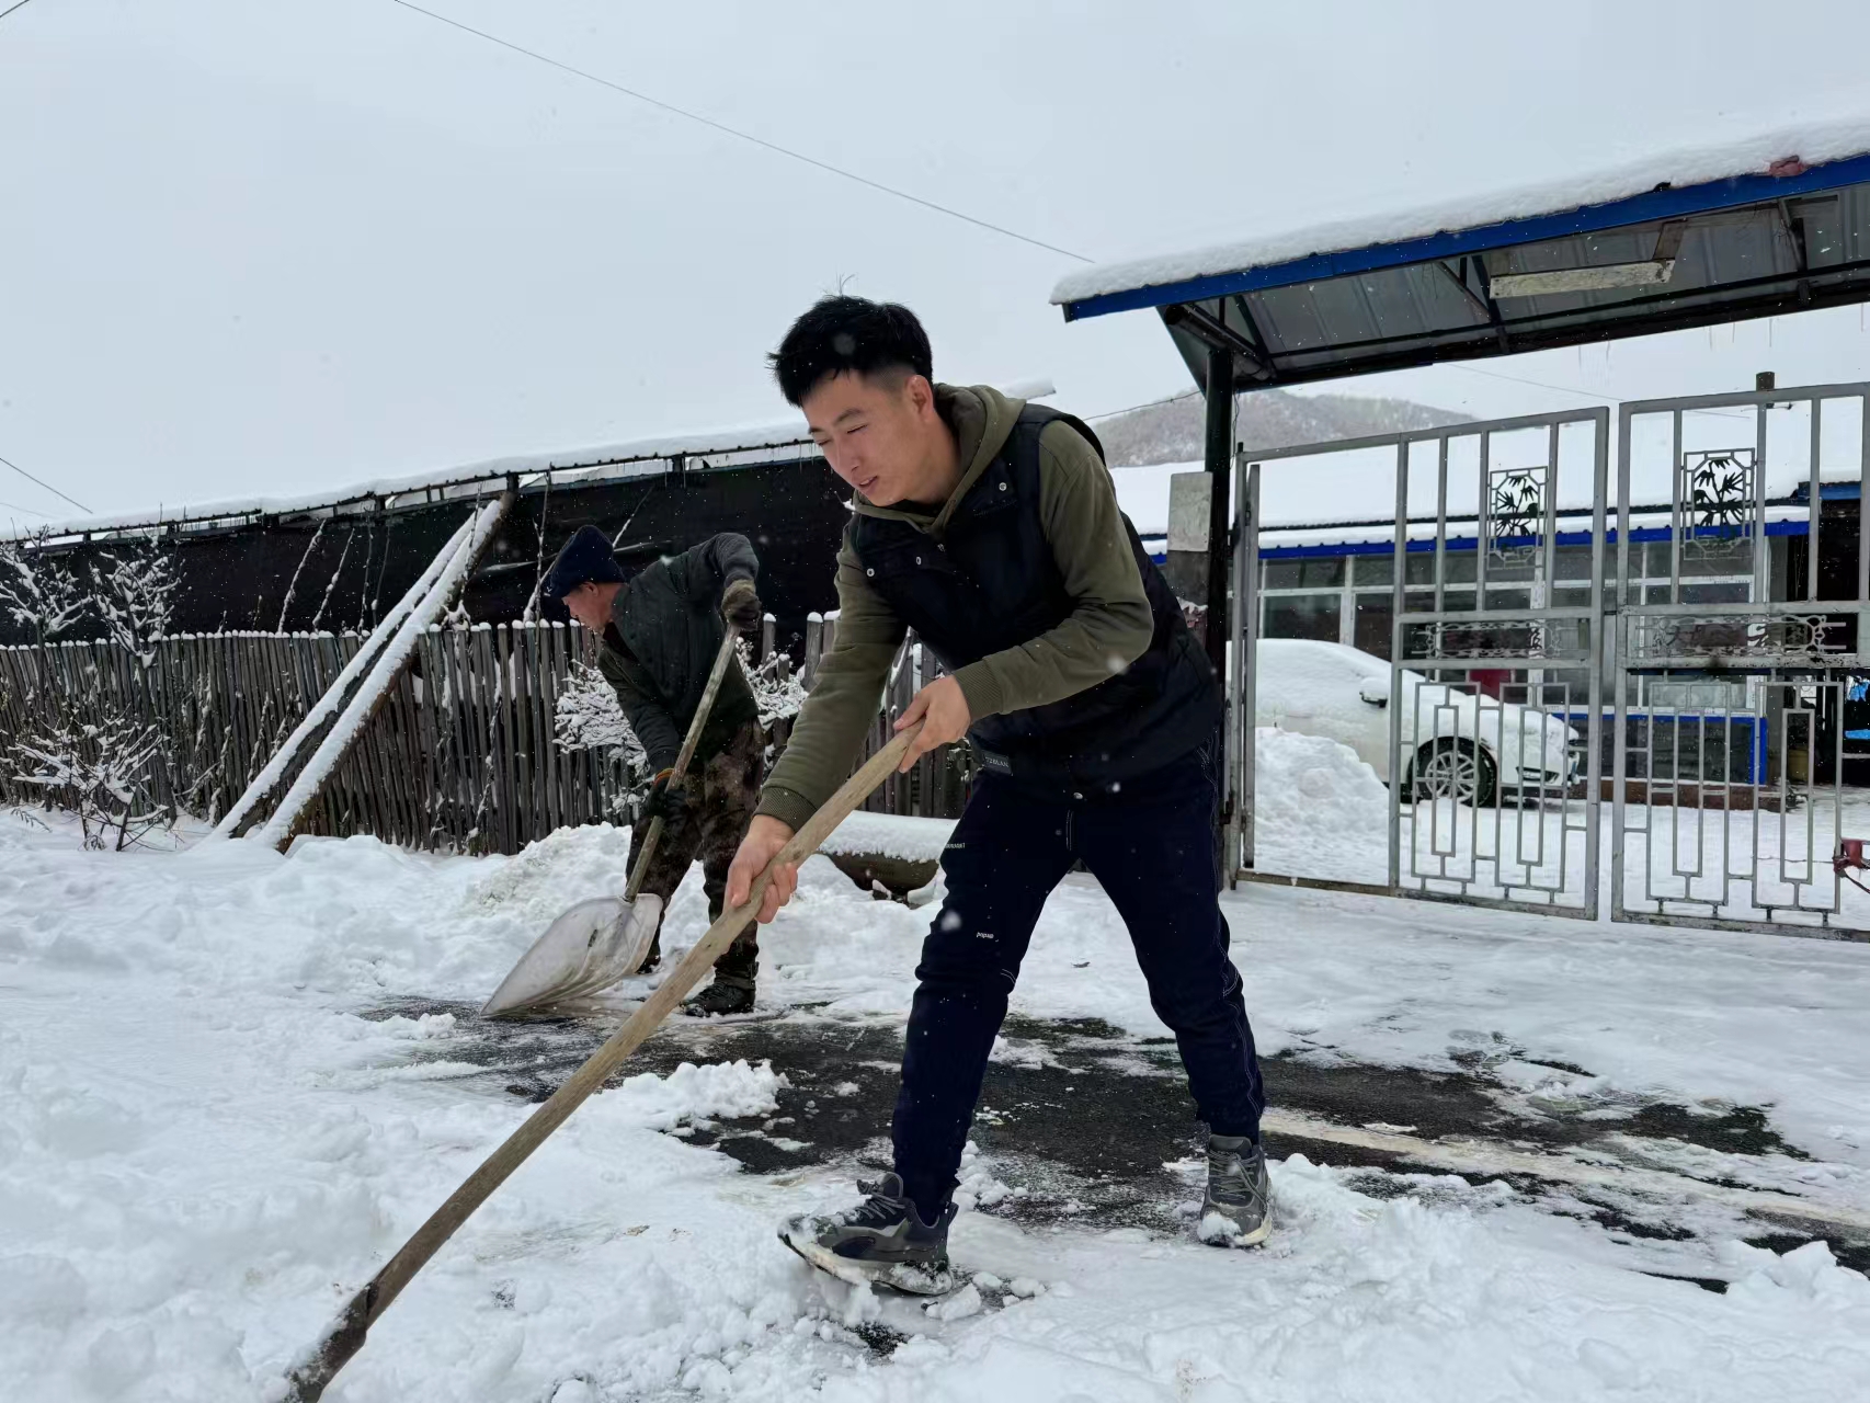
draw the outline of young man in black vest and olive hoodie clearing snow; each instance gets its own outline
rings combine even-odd
[[[840,1276],[942,1287],[987,1053],[1040,909],[1083,859],[1129,928],[1208,1122],[1202,1237],[1264,1240],[1264,1096],[1217,900],[1221,694],[1118,511],[1096,436],[987,387],[933,383],[928,335],[903,307],[828,297],[772,359],[856,496],[838,642],[761,791],[727,902],[746,900],[851,773],[905,629],[948,675],[898,722],[922,722],[903,767],[967,737],[980,773],[916,969],[896,1173],[866,1184],[862,1205],[780,1237]],[[759,918],[795,887],[795,868],[776,872]]]

